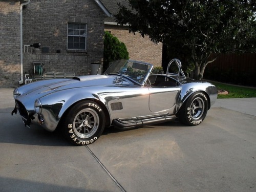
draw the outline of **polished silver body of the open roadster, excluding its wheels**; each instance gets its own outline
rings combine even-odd
[[[138,124],[141,120],[153,124],[174,119],[182,104],[195,92],[200,91],[207,96],[208,109],[217,99],[216,87],[186,78],[178,59],[169,63],[169,66],[173,63],[178,66],[177,74],[168,71],[166,74],[151,74],[153,66],[149,63],[118,62],[133,62],[147,68],[137,78],[106,73],[29,83],[14,90],[16,108],[26,125],[39,124],[52,132],[71,106],[81,100],[93,100],[101,106],[106,126],[134,127],[142,125]],[[168,81],[169,84],[157,85],[157,81]],[[39,113],[36,112],[35,101],[39,102]]]

